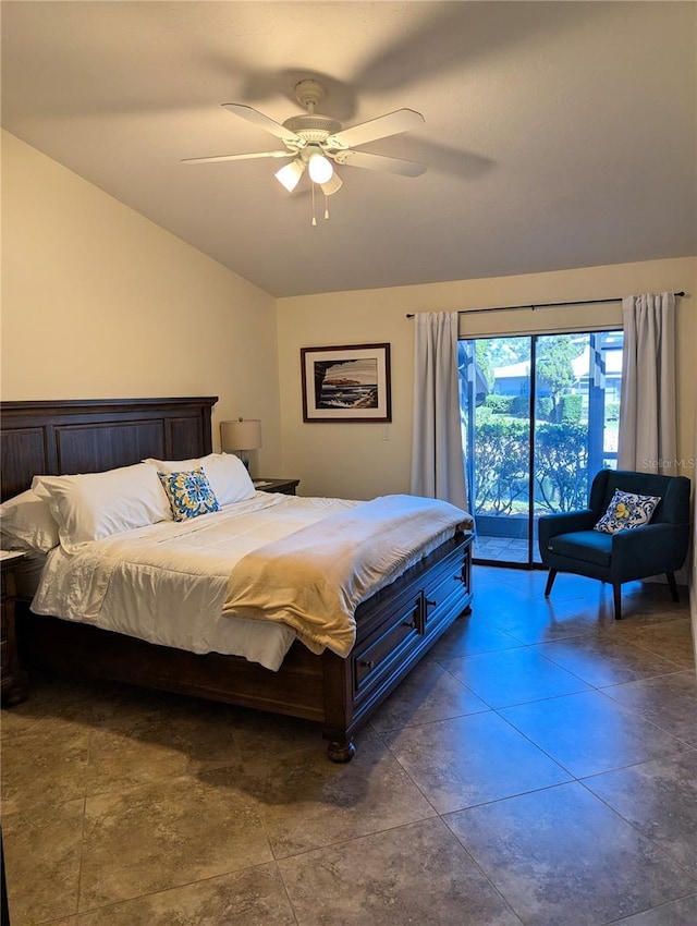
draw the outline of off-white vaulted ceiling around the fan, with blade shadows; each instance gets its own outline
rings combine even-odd
[[[276,296],[697,253],[694,2],[2,3],[9,132]],[[423,127],[340,168],[317,228],[278,148],[222,109],[344,127],[402,107]]]

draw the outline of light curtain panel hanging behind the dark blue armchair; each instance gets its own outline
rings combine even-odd
[[[622,314],[617,467],[675,475],[675,296],[627,296],[622,302]]]

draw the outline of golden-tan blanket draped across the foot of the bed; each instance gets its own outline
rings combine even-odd
[[[223,613],[289,624],[313,653],[346,657],[358,605],[472,517],[444,501],[392,495],[266,544],[230,575]]]

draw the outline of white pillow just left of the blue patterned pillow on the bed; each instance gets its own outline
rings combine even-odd
[[[48,500],[68,550],[111,534],[171,521],[157,472],[145,463],[77,476],[35,476],[35,492]]]

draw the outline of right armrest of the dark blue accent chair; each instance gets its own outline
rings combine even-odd
[[[688,524],[647,524],[612,536],[612,570],[619,575],[657,575],[681,569],[689,546]]]

